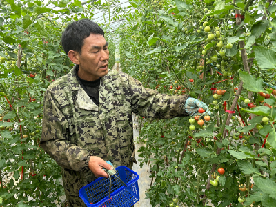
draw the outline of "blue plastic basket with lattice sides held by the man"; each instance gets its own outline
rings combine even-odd
[[[111,176],[112,187],[109,198],[109,178],[99,177],[79,190],[79,197],[81,197],[86,206],[127,207],[139,201],[140,196],[137,182],[139,175],[125,166],[119,166],[116,170],[116,175],[124,181],[128,187],[124,186],[117,177]]]

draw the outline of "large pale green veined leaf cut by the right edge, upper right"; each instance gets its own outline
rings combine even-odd
[[[276,68],[276,55],[273,50],[262,46],[253,46],[255,52],[255,59],[259,68],[262,69],[275,69]]]

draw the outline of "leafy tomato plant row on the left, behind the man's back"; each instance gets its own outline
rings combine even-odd
[[[43,94],[73,66],[61,47],[64,28],[92,19],[97,8],[119,9],[109,2],[0,1],[0,206],[61,206],[61,168],[39,145]],[[108,28],[112,68],[115,43]]]

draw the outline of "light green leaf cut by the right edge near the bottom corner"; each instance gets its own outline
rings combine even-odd
[[[263,179],[260,177],[253,178],[257,188],[268,194],[270,197],[276,199],[276,184],[271,179]]]

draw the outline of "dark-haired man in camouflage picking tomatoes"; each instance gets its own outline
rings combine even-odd
[[[132,112],[149,119],[195,114],[205,103],[187,95],[161,95],[127,74],[108,70],[108,43],[89,19],[68,25],[62,46],[75,67],[46,90],[41,147],[61,166],[69,206],[85,206],[79,189],[103,167],[132,168]],[[188,101],[186,101],[188,99]]]

